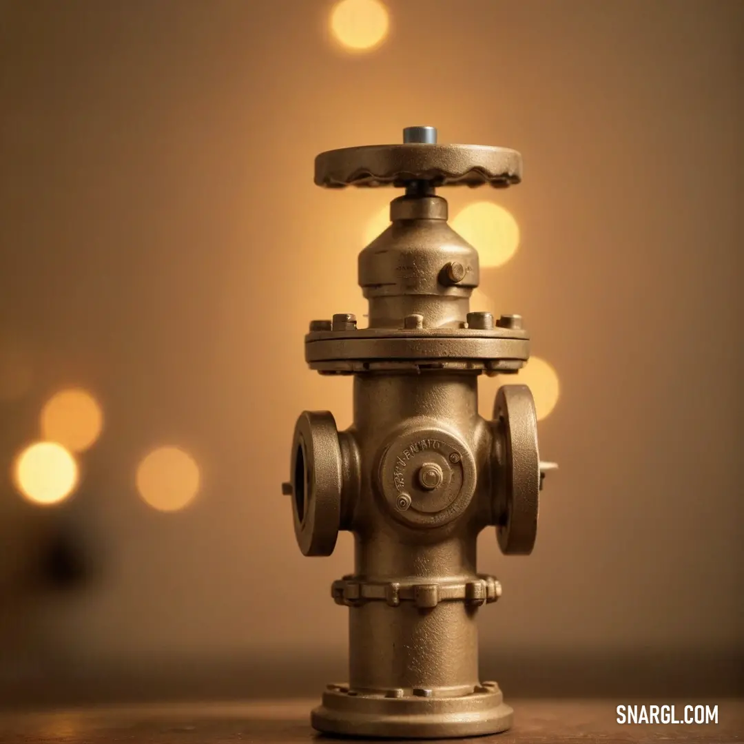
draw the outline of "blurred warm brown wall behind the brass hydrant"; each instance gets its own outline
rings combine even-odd
[[[60,507],[105,546],[100,580],[25,607],[29,658],[343,664],[350,536],[302,557],[280,483],[300,411],[350,423],[350,381],[302,339],[365,312],[356,254],[394,195],[324,192],[312,161],[409,124],[523,153],[520,187],[449,198],[516,217],[482,289],[561,382],[536,551],[479,543],[504,584],[484,651],[744,652],[743,4],[388,6],[387,42],[347,56],[322,2],[0,4],[0,330],[33,367],[0,404],[2,464],[57,388],[106,417]],[[161,443],[202,470],[179,513],[135,490]],[[7,534],[36,519],[18,498],[7,481]]]

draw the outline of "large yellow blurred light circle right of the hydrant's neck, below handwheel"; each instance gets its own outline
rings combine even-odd
[[[506,263],[519,246],[519,225],[492,202],[475,202],[452,219],[452,228],[478,251],[480,264],[493,268]]]

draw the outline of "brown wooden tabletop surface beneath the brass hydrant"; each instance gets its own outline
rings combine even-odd
[[[744,742],[744,701],[713,701],[718,725],[619,725],[615,706],[626,701],[510,701],[512,731],[475,741],[499,744],[733,744]],[[641,704],[643,701],[629,701]],[[659,701],[649,701],[658,704]],[[664,704],[675,701],[663,701]],[[685,703],[678,701],[677,716]],[[695,701],[700,702],[700,701]],[[711,701],[704,701],[711,704]],[[228,744],[333,742],[310,728],[315,700],[106,706],[0,713],[3,744]],[[682,706],[682,707],[681,707]],[[362,740],[356,740],[357,742]],[[449,740],[465,741],[465,740]]]

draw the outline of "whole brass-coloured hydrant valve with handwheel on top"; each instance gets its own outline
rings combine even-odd
[[[295,426],[291,495],[306,556],[328,556],[339,530],[355,541],[353,574],[333,583],[349,611],[349,680],[331,684],[312,726],[333,734],[463,737],[504,731],[513,711],[478,676],[476,610],[501,585],[476,573],[475,541],[496,527],[504,554],[532,551],[542,478],[533,397],[498,390],[478,415],[478,375],[514,373],[529,356],[519,315],[470,312],[478,253],[447,225],[434,188],[519,183],[519,153],[437,144],[408,127],[403,144],[331,150],[315,183],[405,188],[391,225],[359,255],[369,324],[315,320],[305,359],[353,374],[354,423],[328,411]]]

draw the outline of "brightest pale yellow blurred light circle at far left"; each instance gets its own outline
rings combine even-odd
[[[57,442],[37,442],[16,459],[14,481],[33,504],[58,504],[77,486],[75,458]]]

